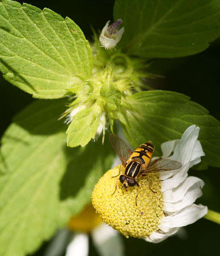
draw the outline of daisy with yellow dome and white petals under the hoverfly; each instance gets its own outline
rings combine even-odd
[[[175,171],[150,174],[138,180],[136,186],[126,191],[118,186],[119,166],[107,171],[96,184],[92,203],[101,218],[125,237],[133,236],[158,243],[174,235],[180,227],[192,224],[207,214],[207,207],[194,204],[202,195],[204,182],[188,177],[188,170],[201,161],[204,152],[197,140],[199,127],[192,125],[180,140],[167,141],[161,145],[162,158],[176,160],[182,167]],[[116,191],[115,191],[116,189]],[[115,193],[113,193],[115,191]]]

